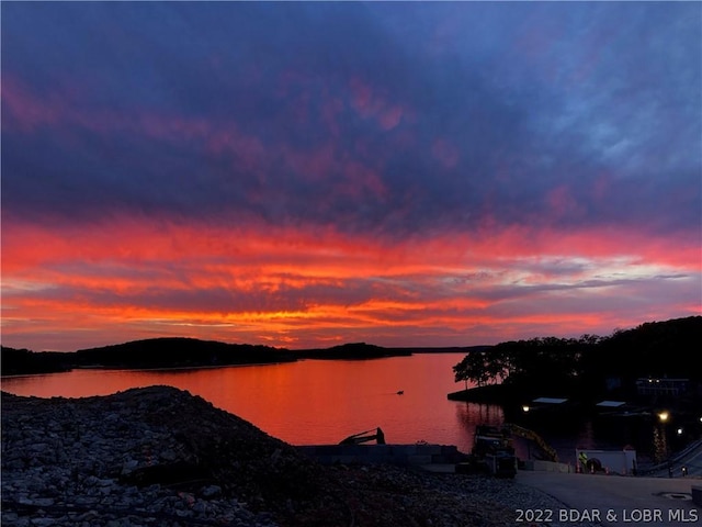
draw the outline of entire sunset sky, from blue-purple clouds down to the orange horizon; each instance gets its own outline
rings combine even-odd
[[[702,314],[700,2],[3,2],[2,344]]]

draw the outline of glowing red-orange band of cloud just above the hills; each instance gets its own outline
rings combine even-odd
[[[607,248],[597,232],[511,228],[388,244],[318,227],[26,224],[3,237],[3,340],[55,349],[55,334],[68,330],[86,346],[185,334],[295,348],[354,337],[411,346],[608,334],[653,312],[629,296],[642,284],[682,299],[671,316],[694,312],[698,261],[672,261],[660,245],[626,255],[641,247],[627,239]],[[568,255],[567,246],[580,249]]]

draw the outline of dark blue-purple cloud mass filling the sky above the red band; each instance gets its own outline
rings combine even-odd
[[[26,2],[2,14],[3,214],[388,235],[699,220],[694,4]]]

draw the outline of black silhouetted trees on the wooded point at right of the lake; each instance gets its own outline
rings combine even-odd
[[[686,378],[699,385],[702,316],[650,322],[610,336],[539,337],[471,350],[453,367],[456,382],[500,385],[522,395],[631,395],[641,378]],[[496,390],[488,390],[496,394]],[[487,391],[486,391],[487,392]]]

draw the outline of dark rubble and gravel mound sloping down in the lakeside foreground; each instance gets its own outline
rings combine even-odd
[[[1,403],[3,526],[471,527],[563,508],[516,480],[322,467],[170,386]]]

